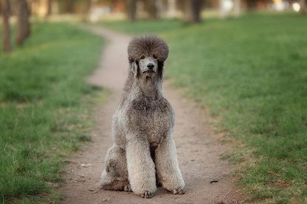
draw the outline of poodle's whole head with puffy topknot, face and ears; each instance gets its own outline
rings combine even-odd
[[[164,61],[168,57],[166,42],[155,35],[134,37],[128,45],[128,59],[135,78],[159,76],[163,79]]]

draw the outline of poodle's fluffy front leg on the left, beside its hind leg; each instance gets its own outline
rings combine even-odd
[[[132,191],[144,198],[151,198],[153,192],[157,190],[156,170],[145,135],[127,137],[126,158]]]

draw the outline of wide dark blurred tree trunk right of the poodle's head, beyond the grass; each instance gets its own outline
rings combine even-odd
[[[196,23],[200,22],[202,0],[185,0],[184,1],[184,20],[186,22]]]

